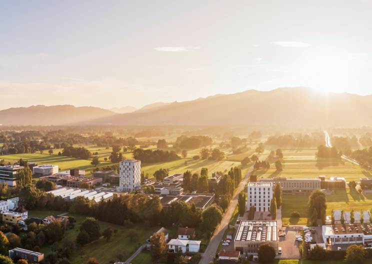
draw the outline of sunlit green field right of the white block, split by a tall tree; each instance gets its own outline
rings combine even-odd
[[[283,224],[307,224],[307,201],[309,195],[306,194],[284,194],[281,196],[281,216]],[[354,189],[336,189],[335,194],[325,195],[327,199],[326,214],[330,215],[333,210],[345,210],[355,212],[361,209],[370,210],[372,208],[372,193],[359,194]],[[293,211],[301,214],[300,218],[290,218]]]

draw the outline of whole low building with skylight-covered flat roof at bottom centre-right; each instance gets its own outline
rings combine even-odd
[[[278,251],[278,229],[276,221],[242,220],[234,238],[234,250],[240,253],[257,254],[260,244],[269,243]]]

